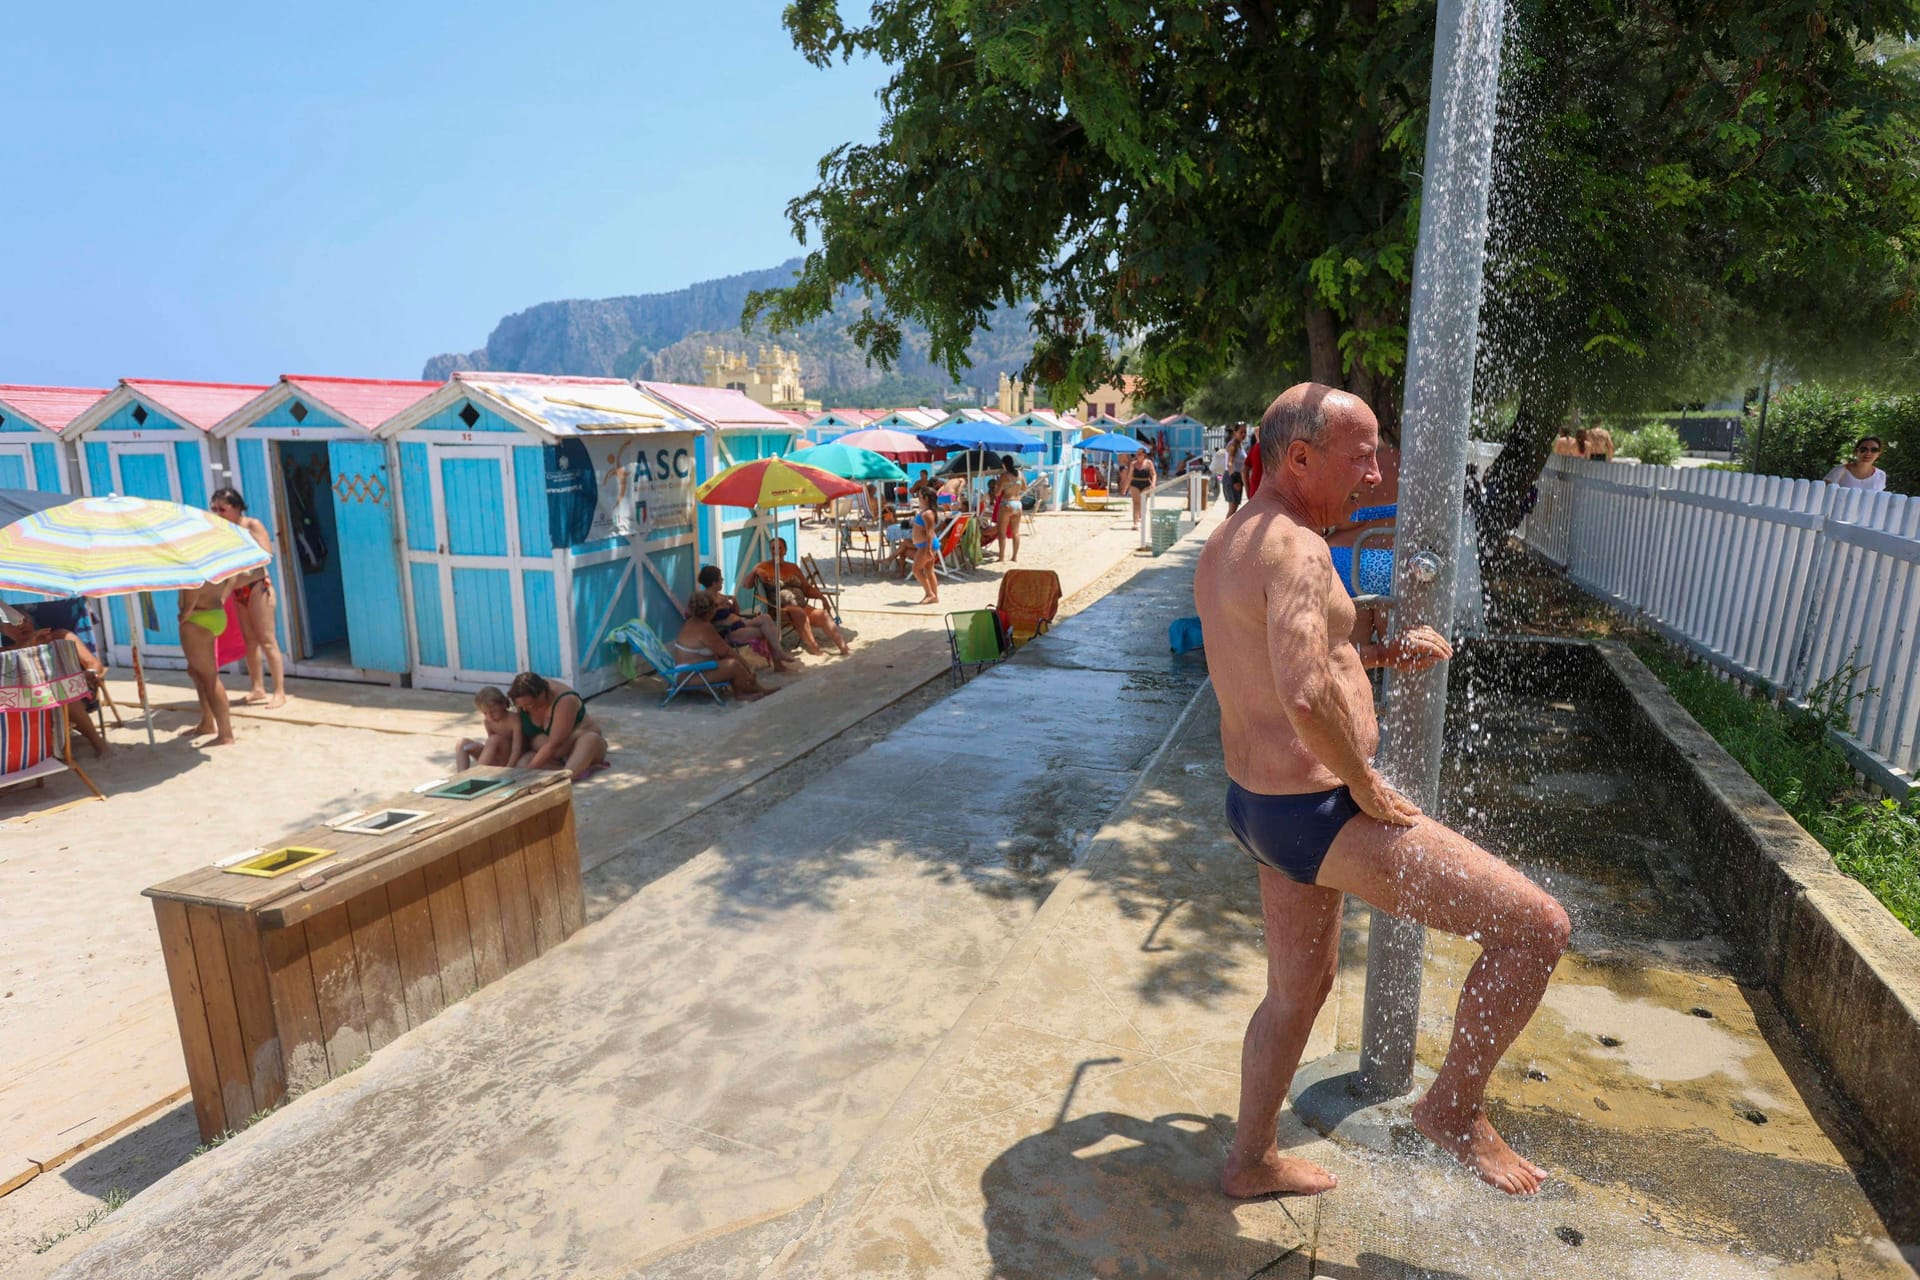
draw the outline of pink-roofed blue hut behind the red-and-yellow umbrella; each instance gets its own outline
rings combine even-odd
[[[639,388],[705,430],[699,480],[707,480],[735,462],[785,457],[801,436],[801,430],[780,411],[768,409],[743,391],[682,382],[641,382]],[[735,589],[747,570],[772,557],[768,539],[776,532],[785,535],[789,555],[799,553],[799,510],[793,507],[781,510],[701,507],[699,518],[701,560],[720,566],[728,591]],[[687,593],[691,593],[691,578],[680,599],[685,599]]]

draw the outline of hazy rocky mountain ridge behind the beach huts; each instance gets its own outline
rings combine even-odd
[[[801,259],[795,257],[780,267],[701,280],[670,294],[545,301],[503,319],[478,351],[432,357],[420,376],[438,380],[463,368],[497,368],[699,382],[701,357],[708,345],[751,353],[768,342],[762,334],[741,332],[741,307],[747,294],[787,284],[799,267]],[[927,336],[922,330],[908,330],[891,376],[868,367],[847,338],[847,322],[864,305],[864,299],[849,294],[831,315],[774,340],[799,353],[806,393],[828,403],[862,403],[862,391],[885,390],[891,399],[925,399],[945,390],[947,372],[927,361]],[[966,372],[966,382],[991,395],[998,376],[1016,372],[1031,351],[1025,315],[1006,311],[993,332],[975,338],[973,368]]]

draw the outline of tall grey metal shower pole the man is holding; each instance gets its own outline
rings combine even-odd
[[[1402,416],[1394,555],[1402,631],[1453,633],[1503,35],[1505,0],[1440,0]],[[1386,679],[1380,771],[1423,810],[1440,798],[1446,679],[1446,664]],[[1373,912],[1359,1086],[1377,1098],[1413,1084],[1423,940],[1419,925]]]

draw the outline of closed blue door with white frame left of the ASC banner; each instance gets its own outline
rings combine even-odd
[[[411,518],[407,524],[420,683],[505,687],[526,670],[520,570],[551,570],[553,560],[520,555],[511,449],[438,443],[426,449],[434,522],[430,551]]]

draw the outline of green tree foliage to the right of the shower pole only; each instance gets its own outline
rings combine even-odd
[[[1920,8],[1519,0],[1482,393],[1511,528],[1572,403],[1645,409],[1766,357],[1912,378]]]

